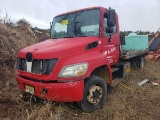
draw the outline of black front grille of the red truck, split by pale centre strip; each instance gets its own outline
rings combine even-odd
[[[31,72],[34,74],[50,74],[58,59],[32,60]],[[17,69],[27,71],[27,61],[24,58],[17,59]]]

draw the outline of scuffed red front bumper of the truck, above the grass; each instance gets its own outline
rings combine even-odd
[[[34,87],[34,95],[52,101],[76,102],[83,98],[84,80],[65,83],[40,83],[16,76],[19,89],[26,85]],[[43,90],[47,90],[44,92]]]

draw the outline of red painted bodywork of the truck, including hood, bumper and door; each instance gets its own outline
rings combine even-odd
[[[92,71],[102,65],[106,65],[110,72],[110,84],[112,84],[112,73],[110,65],[118,62],[119,59],[119,25],[118,16],[116,16],[116,34],[112,36],[109,43],[109,37],[103,37],[103,19],[105,8],[101,10],[100,36],[99,37],[78,37],[78,38],[63,38],[63,39],[49,39],[44,42],[26,47],[19,51],[18,57],[25,58],[27,52],[31,52],[33,59],[51,59],[58,58],[58,62],[50,75],[35,75],[33,73],[22,72],[16,70],[17,81],[19,88],[25,91],[25,84],[35,87],[35,95],[53,100],[63,102],[73,102],[82,100],[84,79],[89,77]],[[86,10],[86,9],[83,9]],[[98,41],[98,46],[94,49],[85,50],[89,43]],[[107,54],[105,54],[107,51]],[[109,51],[109,52],[108,52]],[[61,69],[70,64],[87,62],[89,64],[85,75],[77,78],[59,78],[58,75]],[[20,76],[32,78],[42,81],[57,81],[57,83],[39,83],[32,80],[21,78]],[[69,81],[69,82],[64,82]],[[64,82],[64,83],[61,83]],[[48,89],[48,94],[41,94],[41,88]]]

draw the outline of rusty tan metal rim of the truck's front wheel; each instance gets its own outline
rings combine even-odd
[[[103,90],[100,86],[92,85],[88,91],[87,101],[95,106],[100,102],[102,94]]]

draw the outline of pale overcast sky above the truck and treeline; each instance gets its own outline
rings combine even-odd
[[[57,14],[92,6],[114,8],[121,31],[160,28],[160,0],[0,0],[0,13],[3,17],[7,10],[13,21],[25,18],[32,26],[49,28]]]

